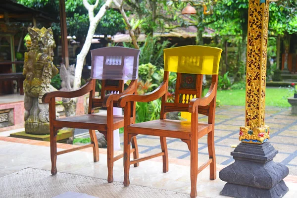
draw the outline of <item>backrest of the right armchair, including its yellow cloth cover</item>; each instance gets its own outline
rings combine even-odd
[[[212,75],[212,82],[217,84],[221,51],[204,46],[164,49],[164,80],[168,86],[169,72],[176,72],[177,79],[174,102],[167,102],[168,89],[162,98],[161,119],[166,118],[168,112],[181,111],[182,117],[190,121],[189,102],[193,98],[201,98],[203,75]],[[213,105],[215,102],[212,106],[199,106],[198,113],[208,116],[209,110],[215,107]]]

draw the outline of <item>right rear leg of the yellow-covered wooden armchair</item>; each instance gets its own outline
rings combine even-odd
[[[209,164],[209,179],[216,179],[216,160],[215,160],[215,149],[214,149],[214,131],[207,134],[207,147],[209,159],[212,158],[212,162]]]

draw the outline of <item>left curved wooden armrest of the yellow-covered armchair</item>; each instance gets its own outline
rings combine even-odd
[[[122,96],[120,99],[118,99],[118,106],[124,107],[126,103],[129,101],[150,102],[152,100],[161,98],[164,94],[166,94],[166,90],[167,90],[167,83],[163,81],[162,84],[150,94]]]

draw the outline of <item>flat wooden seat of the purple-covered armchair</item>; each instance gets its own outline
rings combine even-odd
[[[107,116],[93,113],[93,114],[64,117],[64,118],[55,119],[54,126],[106,131]],[[114,115],[113,130],[121,128],[123,126],[124,126],[124,117],[120,115]]]

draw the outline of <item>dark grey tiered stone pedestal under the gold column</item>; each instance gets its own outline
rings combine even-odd
[[[219,173],[226,181],[220,195],[235,198],[281,198],[288,191],[283,179],[289,174],[287,166],[272,159],[278,150],[269,143],[241,143],[231,155],[235,162]]]

